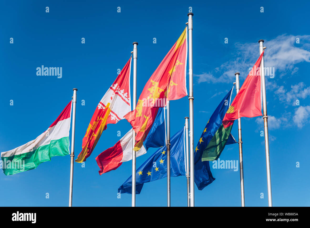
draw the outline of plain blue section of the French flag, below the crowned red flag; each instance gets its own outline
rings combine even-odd
[[[146,150],[150,147],[156,148],[166,145],[165,125],[165,108],[159,108],[153,126],[143,143]]]

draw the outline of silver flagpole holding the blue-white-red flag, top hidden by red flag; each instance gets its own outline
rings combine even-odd
[[[170,101],[167,101],[167,207],[171,206],[170,199]]]

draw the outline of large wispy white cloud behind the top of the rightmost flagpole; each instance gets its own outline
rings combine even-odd
[[[296,44],[296,37],[300,43]],[[279,77],[293,75],[298,71],[297,63],[310,62],[310,35],[293,36],[283,34],[272,40],[265,40],[265,67],[274,67]],[[240,72],[241,78],[246,78],[249,68],[253,67],[259,57],[258,43],[236,43],[236,56],[219,67],[203,74],[194,74],[198,83],[231,83],[235,72]]]

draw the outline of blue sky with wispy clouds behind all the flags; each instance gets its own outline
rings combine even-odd
[[[0,152],[44,132],[71,100],[76,87],[78,155],[96,105],[117,77],[117,69],[122,69],[130,57],[132,42],[139,42],[139,96],[185,28],[188,7],[192,7],[194,144],[231,89],[234,73],[240,72],[240,83],[244,82],[249,67],[259,57],[257,41],[264,39],[265,67],[275,69],[274,78],[266,76],[273,205],[310,206],[306,131],[310,117],[310,34],[304,10],[309,6],[291,1],[2,1]],[[45,7],[49,7],[49,13]],[[121,7],[120,13],[117,7]],[[228,43],[224,43],[225,38]],[[36,68],[41,65],[62,67],[62,78],[37,76]],[[171,101],[170,105],[173,135],[184,126],[188,99]],[[117,198],[118,187],[131,175],[131,162],[100,176],[95,161],[98,154],[120,139],[117,131],[123,136],[129,129],[126,120],[108,125],[85,168],[74,164],[73,206],[131,206],[131,195]],[[268,205],[261,130],[261,118],[242,118],[246,206]],[[232,134],[237,138],[237,124]],[[155,150],[151,148],[138,157],[137,167]],[[220,159],[239,160],[238,145],[228,145]],[[7,196],[2,197],[1,206],[68,206],[69,165],[70,156],[54,157],[27,172],[12,176],[1,172],[0,194]],[[202,191],[195,186],[196,206],[240,206],[239,169],[235,172],[213,169],[212,163],[210,166],[216,179]],[[171,205],[186,206],[186,197],[186,177],[171,178]],[[136,205],[166,206],[166,179],[145,184]]]

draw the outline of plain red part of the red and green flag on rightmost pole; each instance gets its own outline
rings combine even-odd
[[[263,54],[264,51],[259,56],[259,59],[256,61],[235,99],[229,106],[223,118],[225,129],[231,127],[233,120],[240,117],[255,117],[263,115],[260,82],[260,62]]]

